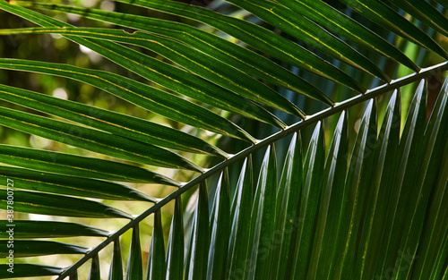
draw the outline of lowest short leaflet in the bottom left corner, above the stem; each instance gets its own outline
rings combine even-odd
[[[0,265],[0,279],[11,279],[21,277],[57,276],[64,271],[64,268],[49,267],[34,264],[14,264],[13,273],[8,265]]]

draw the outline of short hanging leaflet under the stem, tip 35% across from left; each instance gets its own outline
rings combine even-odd
[[[165,280],[166,273],[165,242],[163,241],[162,216],[159,210],[154,213],[154,226],[152,228],[146,280]]]

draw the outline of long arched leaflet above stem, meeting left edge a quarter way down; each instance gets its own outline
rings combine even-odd
[[[0,58],[0,68],[47,73],[82,81],[178,122],[254,142],[254,138],[235,123],[211,113],[202,106],[197,106],[184,98],[178,98],[173,94],[115,73],[94,71],[68,64],[49,64],[6,58]]]

